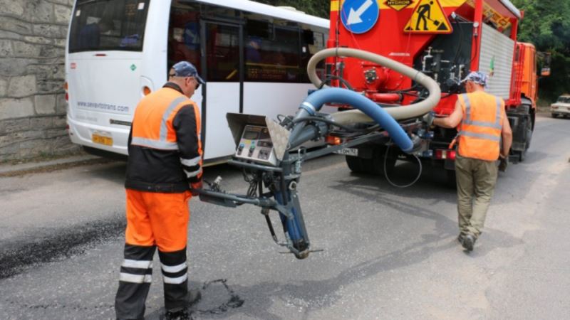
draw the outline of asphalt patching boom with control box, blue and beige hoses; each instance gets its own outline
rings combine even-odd
[[[353,57],[371,61],[405,75],[425,87],[425,97],[403,107],[383,108],[358,92],[327,87],[316,74],[320,60],[331,57]],[[311,252],[301,197],[297,186],[301,180],[301,165],[318,156],[349,149],[360,144],[379,140],[391,141],[410,156],[427,149],[424,134],[427,130],[420,117],[430,112],[440,100],[440,87],[432,78],[395,60],[363,50],[331,48],[322,50],[311,58],[309,78],[319,90],[312,92],[301,102],[294,115],[279,120],[252,114],[227,114],[236,151],[229,164],[242,169],[247,181],[247,192],[228,193],[220,186],[221,178],[199,191],[201,201],[235,208],[250,204],[261,208],[271,237],[286,247],[298,259]],[[321,113],[326,104],[350,105],[353,110]],[[301,145],[311,140],[326,139],[326,147],[308,151]],[[280,242],[269,218],[274,211],[284,230]]]

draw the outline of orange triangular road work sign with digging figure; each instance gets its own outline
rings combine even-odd
[[[452,33],[450,21],[438,0],[420,0],[415,6],[404,32],[409,33]]]

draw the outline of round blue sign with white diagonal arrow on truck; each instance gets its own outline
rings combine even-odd
[[[341,8],[341,21],[352,33],[365,33],[378,21],[380,11],[376,0],[346,0]]]

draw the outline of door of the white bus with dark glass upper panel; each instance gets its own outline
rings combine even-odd
[[[202,76],[207,85],[202,94],[202,142],[204,159],[234,154],[235,144],[226,121],[227,112],[242,111],[242,26],[201,21]]]

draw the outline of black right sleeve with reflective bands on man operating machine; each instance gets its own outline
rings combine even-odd
[[[180,163],[190,183],[197,183],[202,178],[199,121],[199,114],[195,112],[194,105],[185,105],[180,108],[172,121],[180,151]]]

